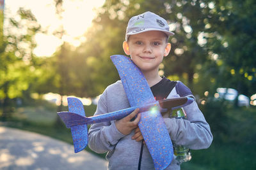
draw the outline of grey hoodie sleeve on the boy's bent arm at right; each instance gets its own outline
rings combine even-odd
[[[182,85],[185,86],[183,83]],[[188,87],[185,89],[185,95],[195,99]],[[208,148],[213,139],[211,129],[203,113],[198,108],[196,101],[185,106],[184,111],[187,114],[186,119],[164,118],[164,123],[166,124],[173,143],[186,146],[193,150]]]

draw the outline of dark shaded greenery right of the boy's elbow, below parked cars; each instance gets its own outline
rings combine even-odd
[[[192,160],[182,169],[255,169],[255,108],[234,108],[227,101],[207,99],[200,109],[213,142],[207,150],[192,150]]]

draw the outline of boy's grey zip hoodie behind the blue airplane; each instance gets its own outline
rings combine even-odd
[[[178,81],[178,84],[182,83]],[[185,88],[188,89],[188,87]],[[177,86],[174,87],[168,98],[177,96],[177,90]],[[194,97],[191,93],[186,95]],[[129,101],[126,97],[122,81],[119,80],[109,85],[100,96],[95,115],[129,107]],[[186,120],[182,118],[168,118],[168,115],[163,116],[173,144],[183,145],[192,150],[208,148],[212,142],[211,130],[196,102],[194,101],[192,104],[185,106],[184,110],[187,114]],[[131,139],[134,131],[125,136],[116,129],[115,121],[111,121],[93,124],[88,134],[88,146],[94,152],[108,152],[106,159],[109,161],[109,169],[138,169],[141,142]],[[141,169],[154,169],[153,160],[145,145]],[[170,166],[166,169],[180,169],[180,166],[177,164],[177,160],[173,159]]]

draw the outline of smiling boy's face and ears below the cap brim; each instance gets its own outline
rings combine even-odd
[[[143,73],[157,71],[163,57],[170,52],[171,45],[166,43],[166,34],[161,31],[147,31],[129,36],[124,41],[124,51]]]

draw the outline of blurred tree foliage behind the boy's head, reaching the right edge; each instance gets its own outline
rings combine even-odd
[[[129,18],[152,11],[166,18],[175,32],[170,37],[172,51],[161,66],[166,77],[184,81],[200,96],[206,90],[214,92],[216,87],[233,87],[251,96],[255,93],[256,57],[251,51],[255,48],[251,36],[255,35],[255,22],[248,18],[255,18],[253,6],[255,3],[249,0],[107,0],[86,33],[86,42],[77,49],[86,60],[85,66],[92,70],[84,73],[93,88],[84,90],[100,94],[109,83],[118,80],[109,56],[124,54],[122,42]],[[237,50],[241,42],[243,50]]]

